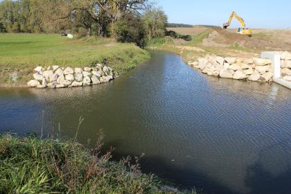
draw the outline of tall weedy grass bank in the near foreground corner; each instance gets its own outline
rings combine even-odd
[[[0,193],[182,193],[141,173],[137,159],[109,161],[101,140],[89,150],[75,141],[0,136]]]

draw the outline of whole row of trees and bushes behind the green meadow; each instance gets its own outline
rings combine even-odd
[[[150,0],[3,0],[0,32],[61,33],[136,42],[163,37],[167,17]]]

